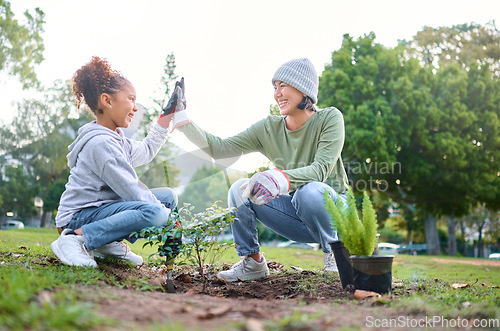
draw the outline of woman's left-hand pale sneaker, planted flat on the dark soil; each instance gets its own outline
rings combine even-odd
[[[226,282],[236,282],[238,280],[250,280],[266,277],[269,275],[266,258],[262,255],[262,261],[257,262],[250,256],[244,256],[240,262],[234,264],[231,269],[221,271],[217,278]]]

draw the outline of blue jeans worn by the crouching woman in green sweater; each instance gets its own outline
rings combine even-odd
[[[293,196],[282,195],[267,204],[257,206],[243,199],[241,185],[246,179],[236,181],[229,190],[228,203],[237,208],[232,224],[234,243],[239,256],[260,252],[257,239],[258,219],[277,234],[304,243],[319,243],[323,252],[331,252],[330,243],[337,241],[337,232],[332,228],[331,217],[325,209],[325,189],[335,201],[345,194],[337,194],[330,186],[321,182],[310,182],[295,191]]]

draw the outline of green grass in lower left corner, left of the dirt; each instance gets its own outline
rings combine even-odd
[[[0,231],[0,325],[7,330],[93,330],[113,322],[78,294],[107,276],[53,263],[47,229]],[[19,246],[23,243],[23,246]]]

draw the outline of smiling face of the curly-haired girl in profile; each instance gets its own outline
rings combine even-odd
[[[105,105],[104,116],[99,124],[111,130],[127,128],[138,110],[135,100],[135,88],[132,84],[126,84],[119,92],[109,96],[109,100]]]

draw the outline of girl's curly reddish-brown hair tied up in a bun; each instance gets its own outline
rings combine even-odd
[[[78,69],[73,75],[71,91],[75,96],[78,108],[84,102],[96,115],[103,112],[99,108],[101,94],[114,94],[127,84],[130,82],[118,71],[112,70],[108,61],[93,56],[89,63]]]

